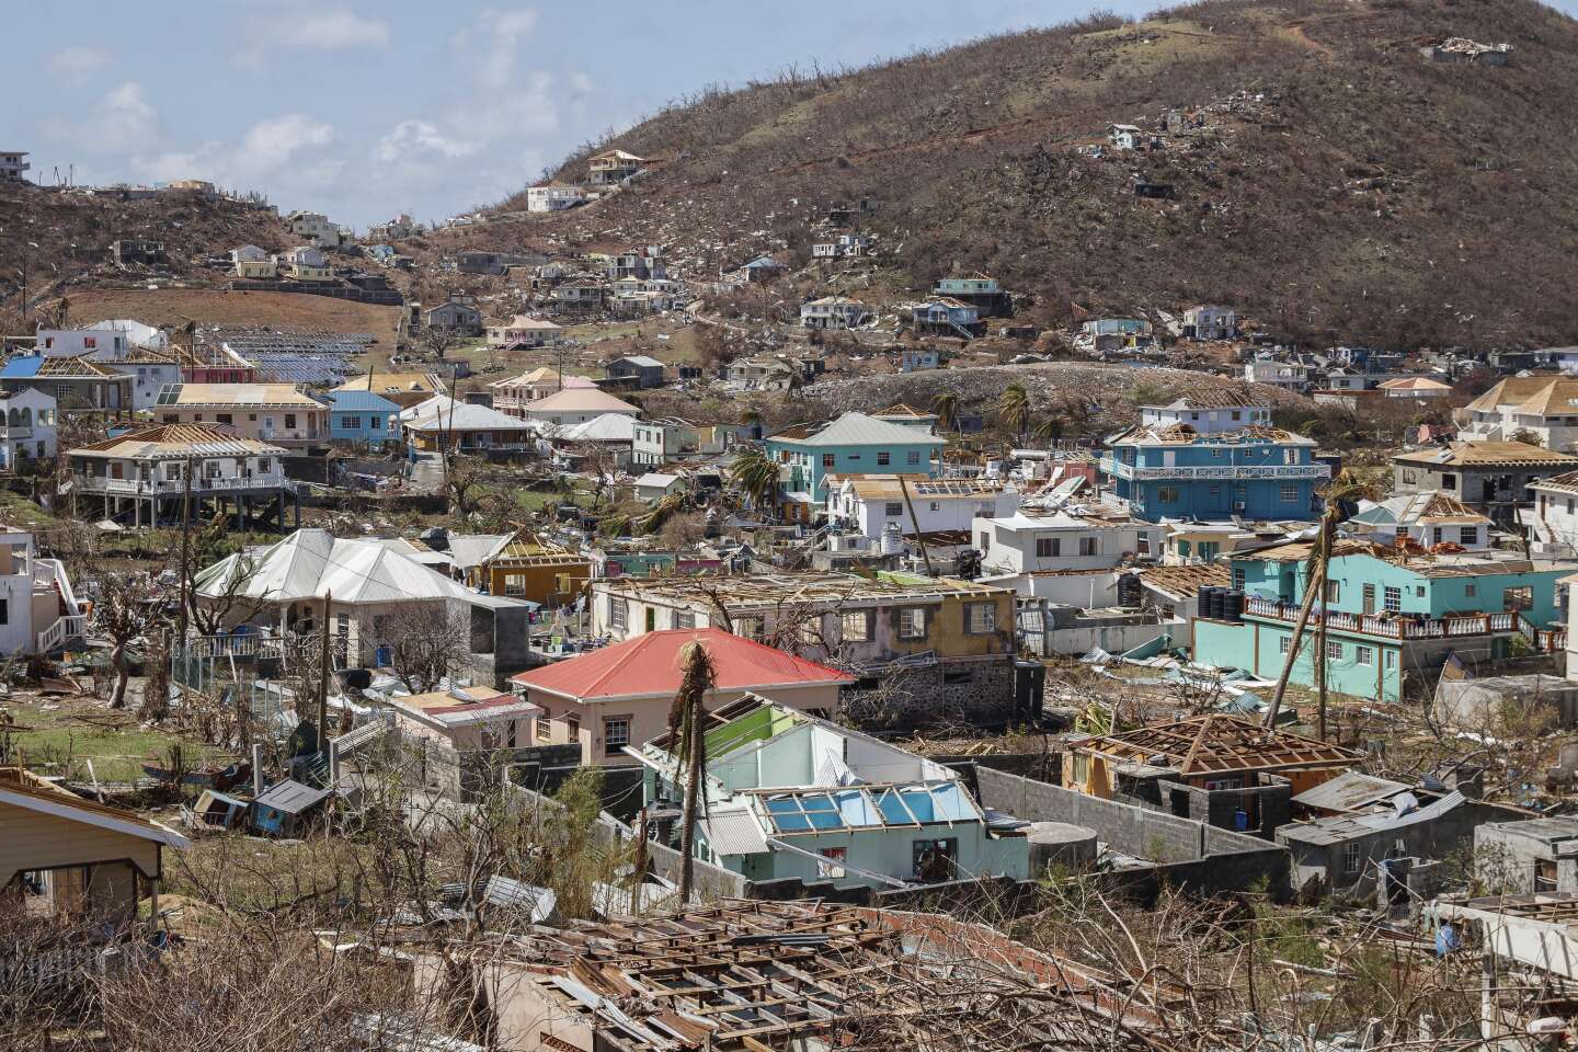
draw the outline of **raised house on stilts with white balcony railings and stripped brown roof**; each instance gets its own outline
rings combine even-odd
[[[256,509],[282,530],[295,494],[286,456],[213,424],[151,424],[69,450],[66,464],[74,500],[98,503],[103,517],[125,525],[178,522],[189,494],[194,519],[205,503],[230,503],[238,516]],[[295,514],[300,520],[300,506]]]

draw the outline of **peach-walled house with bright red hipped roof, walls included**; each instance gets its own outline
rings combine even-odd
[[[838,691],[854,683],[847,672],[742,639],[721,628],[644,632],[581,658],[511,677],[518,694],[538,705],[535,744],[581,743],[581,762],[634,765],[623,746],[641,744],[667,729],[669,705],[680,688],[680,650],[697,640],[718,667],[707,708],[759,694],[768,700],[832,716]],[[521,743],[527,744],[527,743]]]

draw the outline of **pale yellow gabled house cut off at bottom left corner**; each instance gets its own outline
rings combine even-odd
[[[189,844],[24,768],[0,768],[0,912],[21,905],[125,929],[137,901],[156,891],[166,847]]]

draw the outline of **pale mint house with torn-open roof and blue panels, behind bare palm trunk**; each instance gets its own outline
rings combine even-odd
[[[748,880],[899,888],[1030,875],[1027,822],[988,815],[959,774],[754,694],[705,718],[696,856]],[[667,737],[626,749],[653,811],[683,801]]]

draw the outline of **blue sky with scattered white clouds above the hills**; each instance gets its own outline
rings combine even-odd
[[[710,84],[791,65],[863,65],[1067,21],[1092,5],[0,6],[0,60],[14,87],[0,109],[0,148],[30,150],[36,181],[68,164],[79,183],[210,178],[363,227],[396,211],[436,221],[497,200],[578,144]],[[1157,3],[1098,6],[1142,14]]]

